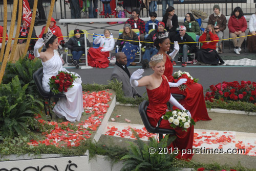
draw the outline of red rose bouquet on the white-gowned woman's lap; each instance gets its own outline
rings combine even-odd
[[[74,74],[59,71],[57,76],[52,76],[50,78],[50,89],[54,94],[67,92],[68,88],[73,87],[73,81],[77,77]]]

